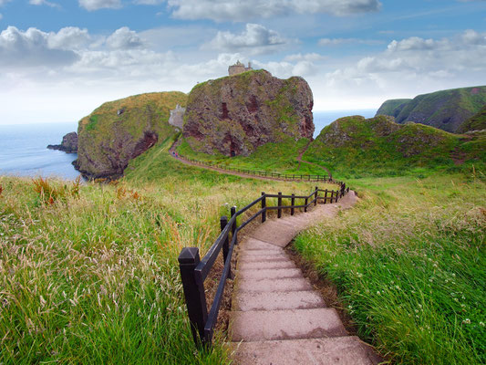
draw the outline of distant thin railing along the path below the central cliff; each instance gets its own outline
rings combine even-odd
[[[194,164],[198,164],[201,166],[212,167],[216,169],[221,169],[225,171],[231,172],[238,172],[244,173],[246,175],[251,176],[261,176],[266,178],[272,178],[275,180],[284,180],[284,181],[303,181],[303,182],[324,182],[324,183],[338,183],[341,184],[342,182],[335,182],[332,177],[326,175],[306,175],[302,173],[280,173],[280,172],[266,172],[266,171],[258,171],[258,170],[247,170],[247,169],[240,169],[236,167],[224,166],[221,164],[213,163],[213,162],[201,162],[198,160],[193,160],[187,157],[182,156],[181,154],[173,152],[176,158],[181,160],[185,160],[187,162],[191,162]]]

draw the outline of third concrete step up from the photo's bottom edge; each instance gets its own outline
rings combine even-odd
[[[282,310],[325,308],[326,303],[315,291],[246,292],[233,298],[233,310]]]

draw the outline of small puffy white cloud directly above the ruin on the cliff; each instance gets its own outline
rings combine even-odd
[[[258,24],[247,24],[241,34],[218,32],[210,47],[227,52],[242,51],[251,55],[271,53],[288,43],[274,30]]]

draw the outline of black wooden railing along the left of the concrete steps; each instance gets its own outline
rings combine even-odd
[[[212,244],[211,248],[202,259],[200,258],[199,249],[197,247],[184,247],[182,249],[181,254],[179,255],[182,287],[191,322],[192,336],[198,346],[212,344],[212,335],[218,318],[226,279],[231,276],[232,255],[234,246],[238,245],[238,233],[259,215],[262,215],[262,223],[264,223],[266,220],[266,213],[269,210],[276,210],[278,218],[282,216],[282,211],[284,209],[290,209],[290,214],[294,215],[295,208],[304,208],[304,211],[307,212],[307,208],[311,204],[316,204],[319,200],[324,201],[324,203],[336,203],[347,192],[349,192],[349,188],[346,188],[346,184],[339,183],[339,189],[336,191],[323,190],[315,187],[315,190],[309,195],[295,195],[294,193],[291,195],[283,195],[282,193],[262,193],[262,196],[255,199],[252,203],[249,203],[239,211],[236,211],[236,207],[233,206],[231,208],[231,218],[229,220],[226,216],[221,217],[221,234],[216,238],[216,241]],[[324,196],[319,196],[319,193],[324,193]],[[277,205],[267,205],[267,198],[276,198]],[[291,204],[284,205],[283,199],[290,199]],[[304,202],[295,204],[295,199]],[[237,217],[244,214],[258,203],[261,203],[260,210],[240,225],[237,225]],[[212,306],[208,312],[204,291],[204,280],[209,275],[212,265],[221,251],[224,267],[222,269],[222,276],[216,294],[212,300]]]

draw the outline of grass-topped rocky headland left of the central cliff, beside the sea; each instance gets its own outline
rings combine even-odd
[[[118,178],[129,160],[163,141],[174,127],[171,110],[185,106],[181,92],[140,94],[107,102],[78,125],[78,160],[75,167],[88,178]]]

